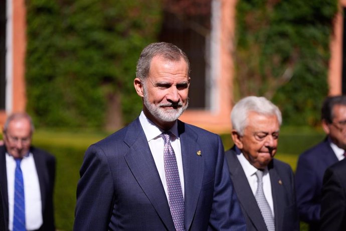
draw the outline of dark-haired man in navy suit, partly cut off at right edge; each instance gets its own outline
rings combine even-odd
[[[346,96],[326,97],[321,109],[321,122],[327,137],[299,156],[295,173],[299,217],[309,224],[310,231],[319,229],[324,171],[344,158]]]

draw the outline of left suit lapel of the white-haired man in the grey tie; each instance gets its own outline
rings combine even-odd
[[[226,155],[226,157],[238,200],[256,229],[267,230],[267,226],[265,225],[255,196],[252,193],[248,179],[236,155],[236,152],[232,149],[231,153]]]

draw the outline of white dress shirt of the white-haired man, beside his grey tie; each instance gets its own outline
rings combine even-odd
[[[254,196],[256,195],[256,190],[257,190],[257,168],[255,168],[250,162],[245,158],[243,153],[240,155],[237,155],[237,158],[245,172],[246,178],[248,179],[249,185],[251,187],[252,193]],[[263,172],[263,191],[264,191],[264,196],[266,200],[269,203],[271,212],[273,213],[274,217],[274,203],[273,203],[273,196],[271,193],[271,184],[270,184],[270,175],[268,168],[266,167]]]

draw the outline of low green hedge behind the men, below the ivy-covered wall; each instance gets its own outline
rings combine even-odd
[[[79,169],[87,147],[106,137],[108,133],[98,131],[41,130],[34,133],[35,146],[45,149],[57,158],[55,184],[55,219],[57,230],[72,230],[76,205],[76,188]],[[305,149],[320,142],[324,133],[311,128],[282,127],[275,158],[287,162],[295,170],[298,155]],[[225,149],[233,146],[230,134],[221,136]],[[307,230],[307,229],[301,229]]]

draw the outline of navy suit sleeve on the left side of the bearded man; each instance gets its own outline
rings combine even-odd
[[[107,158],[96,145],[85,153],[77,185],[74,230],[108,230],[114,184]]]

